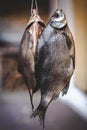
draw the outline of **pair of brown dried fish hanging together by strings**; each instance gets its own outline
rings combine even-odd
[[[32,95],[41,90],[40,104],[31,117],[39,116],[44,127],[49,104],[60,92],[68,91],[75,69],[75,46],[63,10],[56,10],[45,28],[41,19],[32,22],[32,18],[21,41],[18,70],[28,86],[32,108]]]

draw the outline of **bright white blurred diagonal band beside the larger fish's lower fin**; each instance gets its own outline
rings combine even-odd
[[[87,120],[87,96],[74,85],[73,77],[67,95],[60,99]]]

